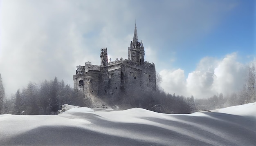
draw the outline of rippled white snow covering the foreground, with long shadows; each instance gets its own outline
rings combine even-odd
[[[256,103],[188,115],[64,108],[59,115],[0,115],[0,145],[256,145]]]

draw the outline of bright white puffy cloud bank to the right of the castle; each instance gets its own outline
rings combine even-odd
[[[247,66],[237,61],[237,53],[219,60],[206,57],[186,79],[182,69],[160,71],[163,78],[161,86],[168,93],[196,98],[209,98],[219,93],[227,95],[242,88],[247,71]]]

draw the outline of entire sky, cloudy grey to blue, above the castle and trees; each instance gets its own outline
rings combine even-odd
[[[242,88],[255,62],[253,0],[0,0],[0,73],[7,94],[77,65],[127,58],[135,19],[145,60],[168,93],[208,98]],[[18,81],[18,82],[17,82]]]

